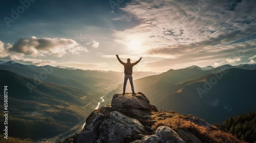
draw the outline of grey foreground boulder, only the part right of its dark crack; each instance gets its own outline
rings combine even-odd
[[[96,142],[131,142],[146,134],[138,120],[113,111],[99,125],[99,138]]]

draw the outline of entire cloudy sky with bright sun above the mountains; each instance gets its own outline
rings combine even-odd
[[[2,1],[0,60],[164,72],[256,63],[256,1]]]

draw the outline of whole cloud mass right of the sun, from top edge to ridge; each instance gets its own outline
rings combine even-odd
[[[254,5],[252,0],[131,1],[121,10],[139,24],[114,37],[124,44],[141,40],[144,54],[158,57],[148,66],[249,63],[256,54]]]

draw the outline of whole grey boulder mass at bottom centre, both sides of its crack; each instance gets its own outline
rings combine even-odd
[[[131,142],[148,134],[135,118],[118,111],[104,114],[93,112],[83,131],[76,135],[75,142]]]

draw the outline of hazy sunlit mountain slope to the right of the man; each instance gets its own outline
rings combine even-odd
[[[256,110],[256,66],[222,65],[209,70],[198,66],[170,69],[160,75],[134,81],[135,91],[147,94],[158,109],[194,114],[210,123]],[[130,91],[129,84],[126,91]],[[121,93],[122,84],[110,94]]]

